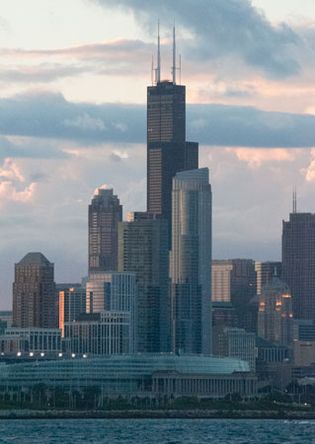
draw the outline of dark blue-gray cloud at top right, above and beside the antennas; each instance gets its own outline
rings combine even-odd
[[[268,76],[281,78],[300,70],[290,54],[291,47],[302,44],[297,34],[285,24],[273,26],[249,0],[92,1],[131,11],[151,32],[156,17],[167,25],[176,17],[193,37],[190,57],[199,60],[236,54]]]

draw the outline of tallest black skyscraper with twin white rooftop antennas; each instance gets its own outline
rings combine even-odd
[[[161,81],[160,37],[155,85],[147,90],[147,210],[172,220],[172,179],[198,168],[198,143],[186,142],[186,88],[176,84],[175,29],[173,78]]]

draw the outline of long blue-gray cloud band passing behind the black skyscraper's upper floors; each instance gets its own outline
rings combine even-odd
[[[78,145],[142,143],[145,106],[71,103],[59,94],[23,95],[0,100],[0,134],[65,139]],[[315,146],[315,116],[266,112],[253,107],[189,105],[188,138],[208,146]],[[1,149],[1,148],[0,148]],[[4,152],[10,151],[4,146]],[[22,147],[14,147],[22,154]],[[28,151],[30,150],[30,151]],[[25,157],[41,146],[23,147]],[[45,156],[56,155],[43,146]],[[1,151],[0,151],[1,152]]]

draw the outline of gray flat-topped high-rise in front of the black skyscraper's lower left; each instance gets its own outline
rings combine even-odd
[[[119,224],[119,271],[136,273],[139,352],[171,347],[167,221],[148,213],[128,215]]]

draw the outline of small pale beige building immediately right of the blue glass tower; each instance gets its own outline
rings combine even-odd
[[[231,302],[231,261],[212,261],[212,302]]]

